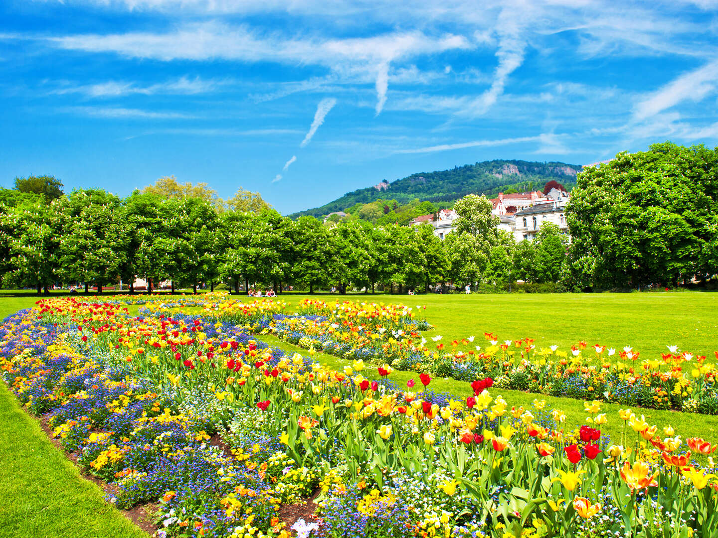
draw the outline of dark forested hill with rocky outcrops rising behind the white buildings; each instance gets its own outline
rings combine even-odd
[[[335,211],[344,211],[355,204],[374,202],[378,198],[405,204],[416,198],[429,202],[452,202],[470,193],[495,197],[510,187],[520,192],[541,190],[551,179],[571,188],[581,168],[577,164],[533,161],[495,160],[466,164],[449,170],[411,174],[391,183],[384,181],[374,187],[357,189],[322,207],[297,212],[289,217],[322,217]]]

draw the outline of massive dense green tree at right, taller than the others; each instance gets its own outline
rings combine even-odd
[[[718,153],[666,142],[577,179],[567,207],[574,286],[677,285],[718,270]]]

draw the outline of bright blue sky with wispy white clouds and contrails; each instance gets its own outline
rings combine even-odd
[[[718,2],[5,0],[0,185],[284,214],[488,159],[718,145]]]

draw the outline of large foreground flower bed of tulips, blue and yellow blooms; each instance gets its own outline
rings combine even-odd
[[[287,536],[281,506],[313,494],[316,520],[293,527],[327,537],[710,537],[718,523],[717,447],[600,402],[571,429],[541,400],[510,409],[489,378],[462,401],[426,392],[429,374],[405,392],[359,361],[335,372],[233,324],[109,303],[40,301],[0,342],[19,400],[108,500],[157,502],[160,536]],[[622,439],[595,429],[606,420]]]

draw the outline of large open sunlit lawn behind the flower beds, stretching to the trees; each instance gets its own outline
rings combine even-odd
[[[284,293],[296,304],[312,296]],[[338,296],[314,296],[334,301]],[[709,355],[718,351],[718,293],[556,293],[420,296],[347,296],[363,301],[426,306],[418,317],[434,325],[426,337],[441,334],[444,342],[476,336],[484,346],[485,332],[500,340],[533,338],[537,347],[558,344],[568,350],[584,340],[623,349],[633,346],[641,357],[660,358],[666,346]],[[415,308],[416,311],[416,308]]]

